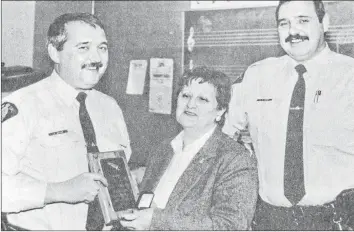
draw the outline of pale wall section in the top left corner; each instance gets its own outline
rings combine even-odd
[[[1,61],[32,67],[35,1],[1,2]]]

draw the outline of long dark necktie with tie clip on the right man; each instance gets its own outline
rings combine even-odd
[[[303,122],[305,102],[305,66],[295,67],[299,74],[290,102],[284,161],[284,195],[296,205],[305,195],[303,162]]]

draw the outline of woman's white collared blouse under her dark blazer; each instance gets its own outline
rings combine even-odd
[[[215,128],[216,126],[202,137],[194,141],[192,144],[184,147],[184,149],[184,131],[179,133],[176,138],[171,141],[174,155],[154,190],[154,203],[158,208],[164,209],[166,207],[168,199],[170,198],[170,195],[175,188],[179,178],[187,169],[194,156],[203,147],[205,142],[211,137]]]

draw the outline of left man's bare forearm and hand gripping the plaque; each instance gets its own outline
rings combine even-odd
[[[59,183],[48,183],[45,203],[89,203],[93,201],[100,186],[107,186],[107,180],[97,173],[82,173],[70,180]]]

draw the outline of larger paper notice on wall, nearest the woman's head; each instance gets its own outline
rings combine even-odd
[[[171,114],[173,59],[150,59],[149,111]]]

